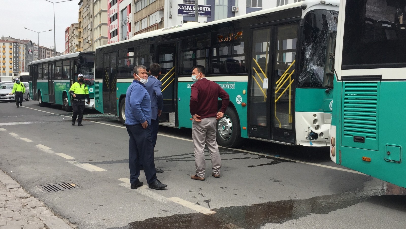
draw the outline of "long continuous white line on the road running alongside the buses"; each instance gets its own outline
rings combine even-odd
[[[26,108],[33,109],[33,110],[36,110],[36,111],[41,111],[41,110],[34,109],[34,108],[31,108],[31,107],[26,107]],[[64,116],[64,115],[60,115],[60,114],[56,114],[56,113],[51,113],[51,112],[48,112],[48,111],[41,111],[41,112],[71,118],[70,116]],[[95,121],[90,121],[90,122],[94,122],[94,123],[97,123],[97,124],[108,125],[108,126],[115,126],[115,127],[126,129],[126,127],[124,127],[124,126],[117,126],[117,125],[107,124],[107,123],[103,123],[103,122],[95,122]],[[161,136],[164,136],[164,137],[171,137],[171,138],[175,138],[175,139],[179,139],[179,140],[184,140],[184,141],[188,141],[188,142],[193,142],[193,140],[186,139],[186,138],[183,138],[183,137],[175,137],[175,136],[161,134],[161,133],[158,133],[158,135],[161,135]],[[354,170],[348,170],[348,169],[345,169],[345,168],[337,168],[337,167],[333,167],[333,166],[320,165],[320,164],[315,164],[315,163],[306,162],[306,161],[299,161],[299,160],[295,160],[295,159],[289,159],[289,158],[285,158],[285,157],[274,157],[272,155],[268,155],[268,154],[264,154],[264,153],[257,153],[257,152],[252,152],[252,151],[248,151],[248,150],[242,150],[242,149],[227,148],[227,147],[223,147],[223,146],[218,146],[218,147],[231,149],[231,150],[237,150],[237,151],[241,151],[241,152],[244,152],[244,153],[263,155],[263,156],[266,156],[266,157],[272,157],[272,158],[276,158],[276,159],[279,158],[279,159],[284,159],[284,160],[287,160],[287,161],[294,161],[294,162],[298,162],[298,163],[302,163],[302,164],[308,164],[308,165],[312,165],[312,166],[319,166],[319,167],[323,167],[323,168],[329,168],[329,169],[334,169],[334,170],[339,170],[339,171],[344,171],[344,172],[352,172],[352,173],[356,173],[356,174],[365,175],[362,172],[358,172],[358,171],[354,171]]]

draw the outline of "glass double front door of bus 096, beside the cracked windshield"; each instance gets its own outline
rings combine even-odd
[[[252,31],[249,136],[294,143],[294,66],[298,24]]]

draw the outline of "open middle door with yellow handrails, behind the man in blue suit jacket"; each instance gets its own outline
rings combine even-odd
[[[158,44],[156,46],[156,62],[161,65],[159,79],[162,81],[162,94],[164,96],[164,109],[160,116],[160,122],[171,126],[178,126],[177,122],[177,69],[176,67],[176,46],[178,42]]]

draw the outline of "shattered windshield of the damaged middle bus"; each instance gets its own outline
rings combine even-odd
[[[322,87],[328,31],[337,31],[338,11],[315,10],[304,17],[299,87]]]

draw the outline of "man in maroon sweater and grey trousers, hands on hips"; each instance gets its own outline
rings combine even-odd
[[[216,142],[217,120],[222,118],[230,102],[230,96],[217,83],[205,78],[205,68],[196,65],[192,71],[192,93],[190,94],[190,115],[192,115],[192,138],[194,144],[194,164],[196,174],[190,176],[195,180],[205,180],[206,161],[204,146],[207,145],[212,159],[212,176],[220,177],[221,159]],[[218,111],[218,98],[222,99]]]

